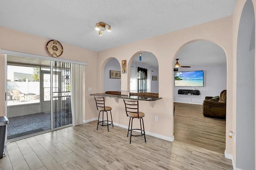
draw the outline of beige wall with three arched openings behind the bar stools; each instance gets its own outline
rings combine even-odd
[[[104,66],[110,57],[127,60],[127,74],[122,74],[122,90],[129,90],[130,64],[134,55],[142,51],[150,51],[158,59],[159,64],[159,96],[161,100],[149,107],[148,102],[140,101],[140,111],[146,113],[145,130],[166,137],[173,137],[173,66],[178,51],[188,42],[208,40],[218,44],[227,57],[227,115],[226,115],[226,152],[232,154],[232,140],[228,132],[232,128],[232,92],[233,92],[233,59],[232,59],[232,16],[196,25],[179,31],[174,31],[157,37],[136,41],[113,49],[104,50],[97,54],[97,91],[103,92]],[[114,99],[107,99],[107,104],[113,108],[114,122],[128,126],[129,119],[124,112],[124,103],[114,103]],[[154,121],[158,116],[158,121]],[[138,126],[138,123],[136,124]]]

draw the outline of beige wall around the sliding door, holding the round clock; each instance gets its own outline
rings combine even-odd
[[[49,39],[22,33],[5,27],[0,27],[0,49],[18,51],[22,53],[30,53],[35,55],[48,56],[46,51],[46,43]],[[87,62],[85,67],[85,113],[84,119],[92,119],[96,117],[96,110],[92,105],[95,105],[94,99],[89,94],[96,93],[96,88],[92,88],[92,92],[88,92],[89,87],[96,87],[96,64],[97,53],[87,49],[75,47],[62,43],[63,54],[58,57],[60,59],[68,59],[73,61]],[[0,115],[4,115],[4,86],[5,86],[5,68],[4,55],[0,56]]]

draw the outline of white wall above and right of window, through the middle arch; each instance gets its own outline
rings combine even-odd
[[[148,66],[145,64],[141,64],[141,63],[135,63],[132,62],[132,66],[136,66],[136,67],[142,67],[142,68],[146,68],[148,70],[153,70],[151,72],[151,93],[158,93],[159,92],[159,76],[158,76],[158,68],[152,67],[152,66]],[[152,80],[152,76],[157,76],[157,81],[156,80]]]

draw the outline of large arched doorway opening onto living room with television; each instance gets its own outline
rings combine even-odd
[[[174,136],[215,152],[226,148],[226,53],[216,43],[197,40],[176,53],[174,67]],[[182,67],[190,66],[190,67]],[[224,101],[220,101],[223,98]]]

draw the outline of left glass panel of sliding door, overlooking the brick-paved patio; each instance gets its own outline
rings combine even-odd
[[[7,55],[7,139],[51,129],[50,101],[44,101],[42,85],[50,61]]]

